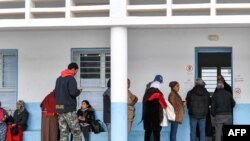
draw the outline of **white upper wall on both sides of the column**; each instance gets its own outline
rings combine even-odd
[[[233,47],[234,88],[240,103],[250,103],[250,28],[173,28],[128,30],[128,77],[141,101],[155,74],[164,76],[167,97],[172,80],[180,82],[183,98],[194,83],[195,47]],[[209,41],[216,34],[218,41]],[[40,102],[71,60],[71,48],[110,47],[110,30],[1,31],[0,49],[18,49],[18,99]],[[195,68],[194,68],[195,69]]]

